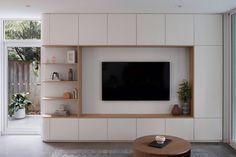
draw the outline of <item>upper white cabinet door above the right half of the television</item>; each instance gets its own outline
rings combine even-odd
[[[137,15],[137,45],[165,44],[165,15]]]

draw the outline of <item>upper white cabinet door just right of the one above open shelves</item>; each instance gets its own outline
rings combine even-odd
[[[79,44],[107,44],[107,14],[79,15]]]

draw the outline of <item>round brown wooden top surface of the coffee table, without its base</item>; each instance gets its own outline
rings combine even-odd
[[[137,138],[133,144],[133,150],[137,150],[148,154],[158,154],[158,155],[178,155],[183,154],[191,150],[191,144],[181,138],[174,136],[165,136],[166,139],[170,139],[171,142],[162,148],[155,148],[148,146],[149,143],[155,140],[156,135],[143,136]]]

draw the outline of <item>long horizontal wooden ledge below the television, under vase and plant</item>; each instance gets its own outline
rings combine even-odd
[[[191,115],[171,114],[80,114],[79,118],[194,118]]]

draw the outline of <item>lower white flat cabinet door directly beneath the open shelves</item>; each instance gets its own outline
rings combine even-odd
[[[50,140],[55,141],[77,141],[78,119],[51,118],[50,119]]]

